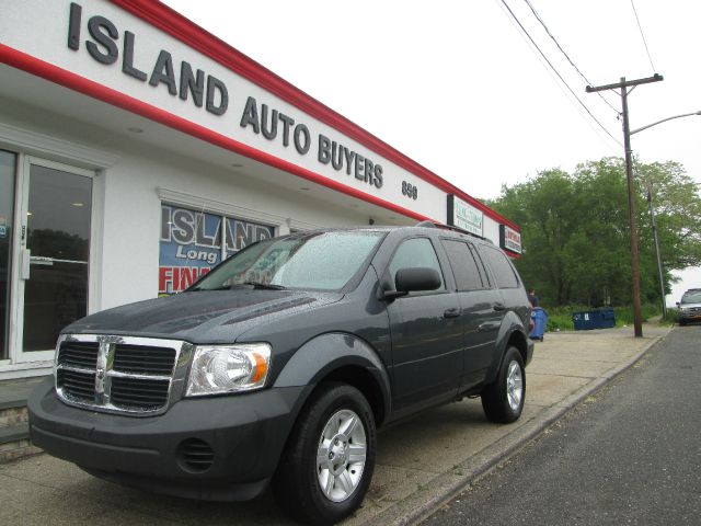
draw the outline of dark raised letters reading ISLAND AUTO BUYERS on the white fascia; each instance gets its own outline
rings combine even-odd
[[[114,65],[115,70],[120,67],[122,73],[140,81],[143,90],[160,90],[217,116],[238,111],[233,118],[246,133],[278,142],[285,149],[294,148],[300,156],[313,155],[317,162],[331,165],[336,172],[366,183],[367,187],[382,187],[383,168],[377,159],[321,133],[312,133],[299,116],[258,102],[250,93],[237,92],[227,80],[183,60],[172,50],[161,48],[158,56],[146,58],[139,53],[140,45],[147,46],[138,32],[122,27],[102,14],[83,14],[82,5],[77,2],[70,4],[67,30],[65,42],[69,49],[84,53],[100,65]],[[233,100],[244,100],[243,108],[232,108],[230,101]]]

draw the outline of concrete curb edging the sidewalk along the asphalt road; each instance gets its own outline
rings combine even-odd
[[[668,334],[668,333],[667,333]],[[466,459],[458,466],[463,474],[444,472],[429,482],[435,496],[426,499],[421,490],[414,491],[400,502],[392,504],[378,515],[363,523],[364,525],[388,524],[394,526],[411,526],[418,524],[430,514],[435,513],[446,502],[452,500],[468,485],[475,482],[496,465],[506,460],[525,447],[530,441],[540,435],[547,427],[560,420],[583,400],[599,391],[611,380],[635,365],[654,345],[666,338],[667,334],[654,336],[637,354],[628,362],[618,365],[582,386],[563,400],[555,402],[533,419],[524,423],[508,435],[499,438],[494,444],[485,447],[476,455]]]

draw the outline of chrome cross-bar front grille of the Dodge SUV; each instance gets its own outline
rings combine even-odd
[[[177,340],[64,335],[58,342],[56,392],[66,403],[96,411],[163,412],[173,380],[185,375],[188,359],[179,368],[179,357],[191,350]]]

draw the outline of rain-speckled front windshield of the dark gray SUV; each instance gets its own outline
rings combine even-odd
[[[296,233],[252,244],[207,274],[191,290],[239,285],[337,290],[360,270],[381,232]]]

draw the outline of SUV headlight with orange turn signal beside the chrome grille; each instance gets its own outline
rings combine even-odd
[[[267,343],[198,345],[195,347],[186,396],[258,389],[271,368]]]

